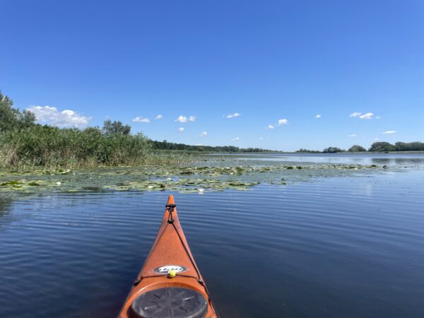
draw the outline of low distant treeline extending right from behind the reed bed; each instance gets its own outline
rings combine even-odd
[[[170,143],[164,141],[151,141],[153,149],[160,150],[179,150],[179,151],[211,151],[214,153],[261,153],[271,152],[267,149],[262,148],[239,148],[235,146],[192,146],[186,145],[185,143]]]

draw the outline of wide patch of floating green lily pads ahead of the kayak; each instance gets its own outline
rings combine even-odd
[[[252,165],[225,161],[215,165],[168,167],[98,167],[78,170],[0,172],[0,195],[43,192],[175,191],[199,193],[232,189],[246,191],[257,184],[290,184],[319,177],[355,177],[383,171],[379,165]]]

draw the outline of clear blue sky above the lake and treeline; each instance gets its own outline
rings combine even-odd
[[[0,12],[0,90],[42,122],[119,119],[155,140],[284,151],[424,141],[424,1],[2,0]]]

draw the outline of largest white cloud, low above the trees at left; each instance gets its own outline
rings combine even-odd
[[[91,117],[86,117],[73,110],[59,112],[56,107],[30,106],[28,111],[33,112],[40,124],[51,124],[61,127],[83,127],[87,126]]]

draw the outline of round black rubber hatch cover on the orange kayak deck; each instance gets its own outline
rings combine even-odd
[[[189,288],[160,288],[141,294],[129,308],[131,318],[203,318],[208,302]]]

